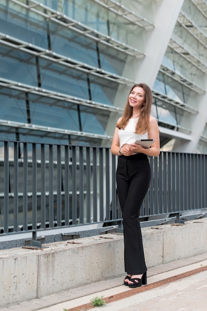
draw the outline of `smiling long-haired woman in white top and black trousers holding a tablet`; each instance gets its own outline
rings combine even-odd
[[[117,192],[123,215],[124,285],[130,288],[147,284],[139,212],[151,180],[148,156],[159,155],[159,129],[150,115],[153,95],[145,83],[135,84],[129,93],[123,116],[118,119],[111,153],[118,157]],[[151,148],[135,144],[137,139],[155,139]]]

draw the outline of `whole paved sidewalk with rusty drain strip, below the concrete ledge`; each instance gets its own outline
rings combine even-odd
[[[150,268],[148,285],[138,289],[120,285],[123,277],[0,308],[0,311],[200,311],[207,308],[207,253]],[[102,308],[91,307],[91,299],[96,296],[104,296],[107,304]]]

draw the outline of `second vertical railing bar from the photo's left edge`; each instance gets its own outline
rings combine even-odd
[[[18,183],[19,183],[19,174],[18,174],[18,168],[19,168],[19,163],[18,163],[18,147],[19,143],[14,142],[14,217],[13,217],[13,222],[14,222],[14,231],[18,231]]]

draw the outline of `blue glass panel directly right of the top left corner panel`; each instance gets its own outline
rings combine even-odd
[[[98,67],[96,43],[69,28],[50,23],[52,51],[81,63]]]

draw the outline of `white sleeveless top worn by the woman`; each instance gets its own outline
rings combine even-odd
[[[135,134],[135,126],[139,118],[129,119],[129,122],[124,130],[119,130],[119,146],[124,144],[133,144],[137,139],[149,139],[148,132],[145,134]]]

